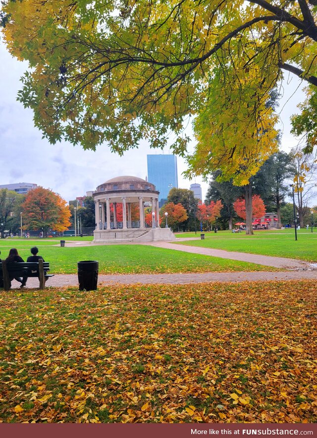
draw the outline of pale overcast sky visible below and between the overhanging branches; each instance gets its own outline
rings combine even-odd
[[[42,139],[41,132],[33,125],[32,111],[16,101],[21,86],[19,79],[26,66],[13,59],[0,42],[0,185],[35,183],[51,188],[68,201],[85,195],[88,190],[95,190],[110,178],[133,175],[145,179],[147,154],[162,153],[150,149],[145,143],[119,157],[110,153],[106,144],[92,152],[67,142],[51,145]],[[300,86],[296,78],[285,78],[279,128],[283,131],[282,149],[286,151],[297,144],[290,134],[289,119],[303,99],[301,89],[296,91]],[[169,153],[169,150],[166,148],[164,153]],[[179,188],[189,188],[193,182],[200,183],[204,197],[208,184],[200,178],[195,181],[184,179],[184,160],[177,158],[177,165]]]

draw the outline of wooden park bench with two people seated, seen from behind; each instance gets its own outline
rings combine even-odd
[[[50,263],[43,261],[41,258],[39,262],[10,262],[0,260],[0,283],[3,281],[5,291],[10,289],[10,276],[14,277],[39,277],[40,289],[44,289],[45,277],[53,277],[54,274],[47,274],[50,270]],[[2,280],[2,281],[1,281]]]

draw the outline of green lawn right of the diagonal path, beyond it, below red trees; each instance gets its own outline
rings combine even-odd
[[[200,238],[200,234],[182,233],[176,237]],[[299,230],[297,241],[294,229],[255,231],[253,236],[246,236],[245,232],[235,234],[227,230],[205,233],[205,240],[179,244],[317,261],[317,231],[311,233],[311,229]]]

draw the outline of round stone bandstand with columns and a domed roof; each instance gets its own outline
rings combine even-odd
[[[117,177],[98,186],[93,196],[96,215],[95,243],[175,240],[169,228],[160,228],[159,191],[153,184],[137,177]],[[151,206],[152,227],[145,222],[145,203]]]

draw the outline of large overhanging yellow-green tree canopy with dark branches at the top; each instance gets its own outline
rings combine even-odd
[[[6,45],[30,65],[18,97],[53,143],[185,155],[195,116],[189,174],[244,185],[276,151],[282,72],[317,86],[317,0],[2,3]]]

